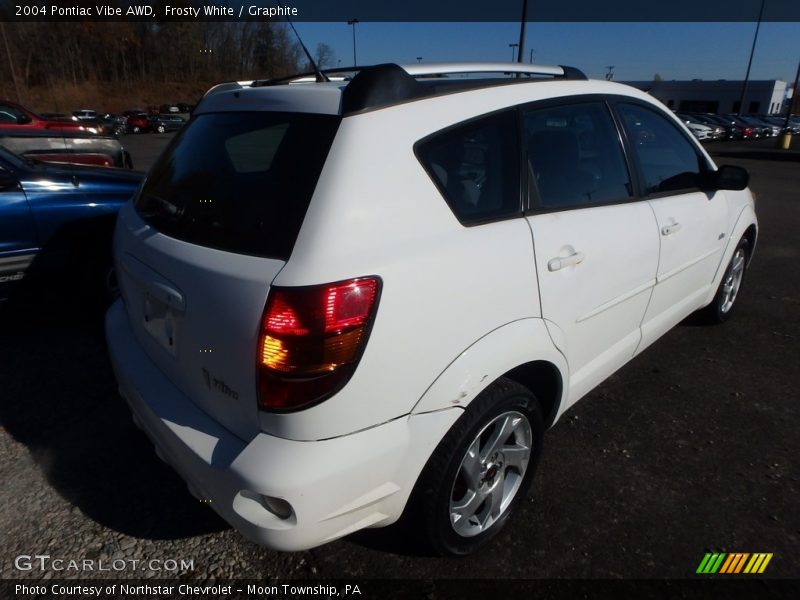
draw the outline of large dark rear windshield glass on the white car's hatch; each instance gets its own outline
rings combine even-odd
[[[136,208],[165,235],[285,260],[339,122],[301,113],[198,115],[153,166]]]

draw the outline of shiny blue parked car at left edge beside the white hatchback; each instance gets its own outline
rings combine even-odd
[[[143,173],[48,165],[0,147],[0,299],[25,280],[110,292],[117,211]]]

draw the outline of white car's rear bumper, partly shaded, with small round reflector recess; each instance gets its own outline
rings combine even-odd
[[[150,361],[118,301],[106,338],[119,390],[159,456],[190,490],[251,540],[302,550],[401,515],[458,408],[404,417],[338,438],[301,442],[259,434],[241,440],[183,395]],[[288,502],[271,512],[264,497]]]

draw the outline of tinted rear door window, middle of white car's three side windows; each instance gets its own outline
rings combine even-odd
[[[630,173],[603,102],[527,110],[523,138],[534,208],[586,207],[630,199]]]

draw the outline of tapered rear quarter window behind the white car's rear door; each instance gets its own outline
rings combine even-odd
[[[485,222],[521,214],[517,140],[505,111],[423,140],[417,155],[459,221]]]

